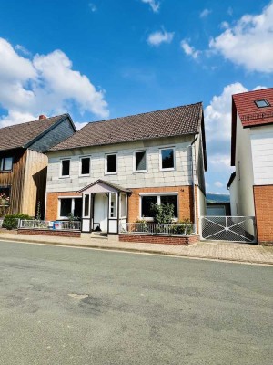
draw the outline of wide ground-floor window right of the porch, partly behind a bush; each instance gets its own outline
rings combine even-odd
[[[154,214],[151,210],[151,204],[173,204],[174,215],[178,218],[178,195],[177,194],[151,194],[140,197],[140,212],[141,218],[153,218]]]

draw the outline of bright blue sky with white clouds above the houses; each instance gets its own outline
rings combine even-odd
[[[273,1],[0,0],[0,127],[203,102],[207,193],[228,193],[231,95],[273,86]]]

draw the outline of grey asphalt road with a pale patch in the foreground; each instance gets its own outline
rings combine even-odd
[[[0,270],[0,364],[272,364],[272,267],[0,242]]]

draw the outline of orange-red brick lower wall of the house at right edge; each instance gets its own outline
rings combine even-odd
[[[258,244],[273,244],[273,185],[254,186]]]

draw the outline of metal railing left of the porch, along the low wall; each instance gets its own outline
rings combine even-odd
[[[37,221],[37,220],[22,220],[20,228],[23,229],[56,229],[56,230],[70,230],[80,231],[80,221]]]

